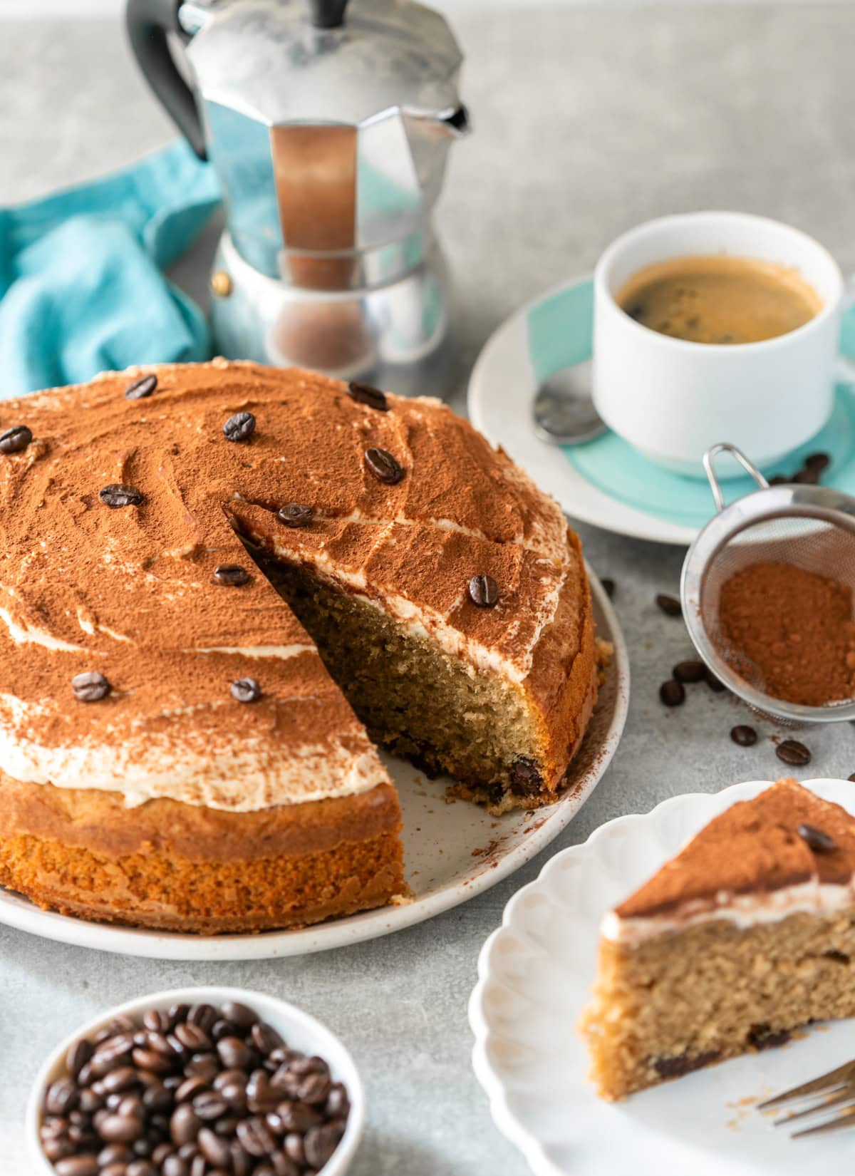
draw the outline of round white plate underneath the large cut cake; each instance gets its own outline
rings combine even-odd
[[[446,802],[447,780],[427,781],[410,764],[383,756],[403,809],[403,848],[413,901],[316,927],[260,935],[179,935],[91,923],[41,910],[0,889],[0,923],[61,943],[155,960],[260,960],[305,955],[373,940],[432,918],[495,886],[534,857],[565,828],[606,771],[623,730],[629,661],[617,619],[588,568],[597,633],[615,647],[614,660],[585,743],[570,768],[570,786],[555,804],[493,817],[466,801]]]

